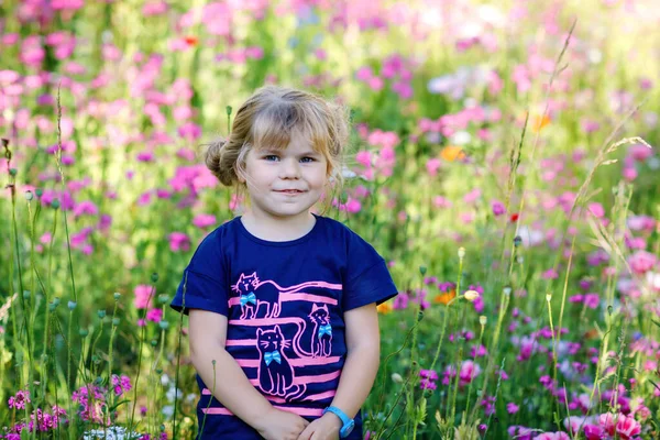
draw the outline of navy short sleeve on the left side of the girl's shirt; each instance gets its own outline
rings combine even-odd
[[[216,230],[199,243],[169,306],[185,315],[190,309],[202,309],[227,316],[226,279],[220,234]]]

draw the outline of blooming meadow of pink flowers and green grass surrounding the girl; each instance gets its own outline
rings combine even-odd
[[[6,0],[0,438],[194,439],[202,144],[265,84],[351,108],[327,213],[400,289],[374,439],[660,437],[652,0]]]

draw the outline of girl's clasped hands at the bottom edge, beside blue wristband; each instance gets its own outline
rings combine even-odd
[[[341,421],[332,414],[307,421],[302,417],[271,409],[256,430],[266,440],[339,440]]]

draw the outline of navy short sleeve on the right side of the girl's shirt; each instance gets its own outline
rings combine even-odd
[[[349,232],[348,264],[343,286],[344,311],[394,298],[398,292],[385,260],[364,239]]]

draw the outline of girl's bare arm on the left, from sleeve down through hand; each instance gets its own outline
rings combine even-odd
[[[300,416],[274,408],[252,386],[241,366],[224,350],[226,316],[190,309],[189,317],[188,334],[193,365],[213,397],[227,409],[266,439],[292,438],[298,436],[309,425]],[[213,384],[216,384],[215,389]]]

